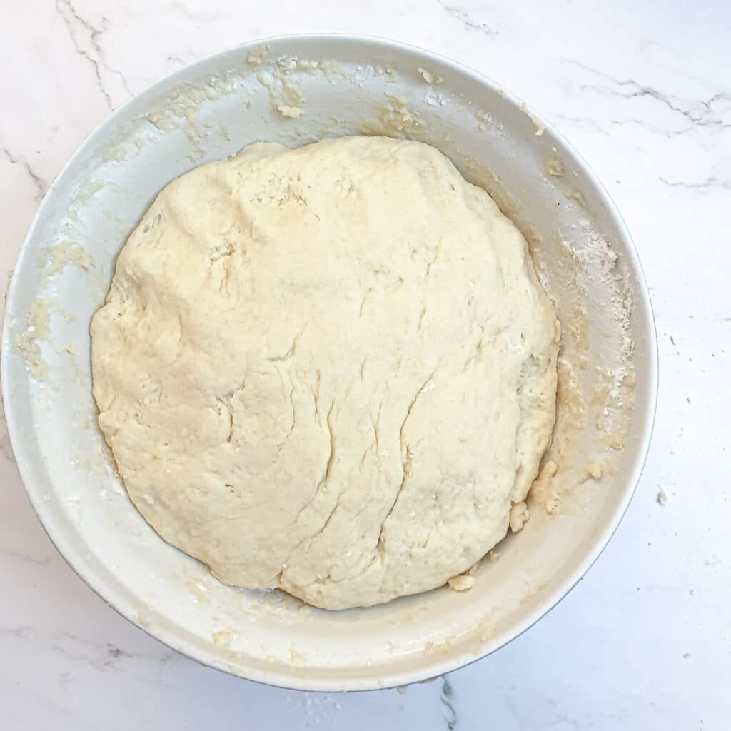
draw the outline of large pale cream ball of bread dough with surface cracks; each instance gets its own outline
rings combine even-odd
[[[170,183],[91,324],[129,496],[221,581],[318,607],[443,585],[548,446],[528,246],[429,145],[249,145]]]

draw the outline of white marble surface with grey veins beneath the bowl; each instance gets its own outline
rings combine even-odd
[[[152,81],[272,34],[392,37],[503,83],[586,156],[645,266],[661,388],[645,474],[586,579],[507,648],[405,694],[273,689],[201,667],[143,635],[56,554],[0,427],[1,728],[730,727],[731,5],[512,6],[3,3],[3,272],[61,165],[110,110]]]

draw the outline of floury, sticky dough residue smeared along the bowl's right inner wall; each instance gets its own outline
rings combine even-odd
[[[479,117],[478,117],[479,118]],[[464,163],[469,180],[485,188],[501,211],[516,224],[523,217],[520,205],[505,192],[498,175],[474,160]],[[546,181],[566,175],[564,162],[553,150],[545,162]],[[555,186],[557,195],[567,190]],[[583,195],[572,195],[586,208]],[[616,251],[605,237],[591,227],[588,219],[572,232],[572,240],[556,236],[551,246],[531,226],[520,226],[529,243],[531,257],[539,279],[548,295],[561,292],[558,318],[564,332],[558,355],[558,393],[556,426],[542,471],[534,482],[529,506],[557,515],[567,504],[577,485],[588,479],[602,480],[613,474],[618,455],[624,448],[635,398],[634,343],[630,330],[632,291],[626,270]],[[550,266],[547,260],[550,259]],[[599,293],[599,294],[597,294]],[[596,300],[596,301],[595,301]],[[607,302],[608,300],[608,302]],[[603,335],[613,338],[617,353],[613,366],[590,369],[590,326],[588,307],[605,308],[612,323]],[[587,425],[594,426],[589,452],[583,463],[575,463],[585,447],[578,449],[587,436]],[[586,445],[585,445],[586,446]]]

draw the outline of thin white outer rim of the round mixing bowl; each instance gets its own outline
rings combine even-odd
[[[479,654],[475,655],[473,653],[465,651],[461,654],[447,656],[444,659],[433,656],[431,662],[428,663],[429,671],[426,674],[401,672],[387,675],[387,677],[385,678],[382,675],[376,676],[364,674],[362,678],[349,679],[348,681],[345,681],[343,683],[338,683],[337,681],[333,681],[331,679],[308,679],[306,675],[306,667],[299,667],[298,670],[303,672],[300,672],[297,675],[292,673],[282,673],[281,671],[259,671],[256,668],[249,668],[246,671],[246,675],[235,673],[224,662],[216,662],[216,657],[212,653],[205,658],[195,654],[194,648],[189,648],[186,641],[183,640],[181,637],[178,637],[175,632],[171,632],[164,627],[156,627],[155,631],[153,631],[143,624],[140,624],[139,621],[135,621],[135,619],[133,618],[135,617],[135,612],[132,610],[132,607],[126,606],[124,598],[120,596],[114,596],[114,591],[110,591],[108,584],[105,583],[105,581],[102,580],[101,577],[93,575],[91,571],[86,570],[88,567],[86,567],[86,562],[84,561],[83,556],[78,555],[69,558],[69,553],[73,553],[72,549],[69,547],[67,547],[67,550],[59,548],[59,544],[62,542],[62,536],[59,535],[58,537],[54,537],[53,535],[51,535],[50,531],[52,529],[48,528],[46,520],[48,520],[50,525],[53,525],[53,516],[49,514],[48,510],[46,509],[45,503],[39,499],[34,500],[31,491],[29,491],[29,489],[26,487],[26,485],[30,481],[32,481],[30,469],[28,466],[28,463],[31,461],[31,459],[29,458],[30,455],[26,454],[25,447],[23,446],[22,428],[18,423],[18,420],[16,418],[16,410],[14,408],[15,395],[12,393],[10,387],[7,385],[9,382],[11,367],[10,359],[9,357],[7,357],[7,346],[11,342],[10,336],[12,327],[12,318],[10,317],[10,304],[15,298],[15,287],[18,286],[17,279],[15,278],[11,278],[10,285],[7,289],[6,310],[4,313],[1,341],[1,344],[4,344],[5,347],[0,348],[0,382],[2,385],[3,404],[5,406],[5,420],[7,423],[8,435],[10,437],[10,444],[16,458],[18,472],[20,474],[21,481],[23,482],[23,488],[26,491],[26,496],[28,497],[31,506],[36,512],[39,522],[41,523],[45,534],[48,536],[48,539],[50,539],[50,542],[53,544],[54,548],[56,548],[58,553],[61,554],[61,556],[64,558],[64,561],[67,562],[69,567],[72,568],[72,570],[76,573],[80,580],[82,580],[83,583],[88,586],[88,588],[91,588],[91,590],[94,591],[94,593],[97,594],[97,596],[99,596],[99,598],[102,599],[102,601],[105,602],[107,606],[111,607],[113,610],[115,610],[116,613],[118,613],[118,615],[126,619],[126,621],[129,621],[131,624],[137,626],[137,628],[145,632],[146,635],[149,635],[155,640],[164,643],[164,645],[173,648],[175,651],[178,651],[184,656],[189,657],[195,662],[199,662],[206,667],[211,667],[214,670],[220,670],[221,672],[227,673],[228,675],[235,675],[236,677],[264,683],[266,685],[280,687],[283,689],[304,690],[310,692],[352,692],[387,689],[396,686],[403,686],[409,683],[425,681],[429,678],[435,678],[439,675],[444,675],[444,673],[450,673],[452,672],[452,670],[458,670],[461,667],[466,667],[467,665],[472,664],[473,662],[477,662],[478,660],[492,654],[493,652],[499,650],[505,645],[508,645],[517,637],[523,635],[524,632],[530,629],[534,624],[537,623],[537,621],[546,616],[550,612],[550,610],[556,607],[562,599],[568,596],[570,591],[572,591],[572,589],[577,586],[580,580],[583,579],[583,577],[586,575],[586,572],[588,572],[588,570],[592,567],[596,559],[599,558],[602,551],[606,548],[610,539],[613,537],[613,534],[616,532],[616,529],[621,523],[622,518],[624,518],[626,510],[629,507],[629,503],[632,501],[632,496],[634,496],[637,485],[640,482],[640,477],[642,476],[643,469],[648,458],[648,452],[656,420],[659,388],[659,356],[656,323],[645,272],[640,262],[640,258],[637,254],[634,240],[632,239],[632,235],[630,234],[629,229],[624,222],[624,219],[619,213],[614,200],[607,192],[607,189],[605,189],[602,181],[600,181],[596,173],[591,170],[591,167],[589,167],[583,156],[581,156],[576,151],[573,145],[569,143],[569,141],[564,137],[564,135],[561,134],[561,132],[558,132],[553,124],[545,120],[542,115],[535,112],[530,105],[527,105],[525,102],[523,102],[523,99],[520,99],[520,97],[512,94],[512,92],[501,86],[499,83],[496,83],[496,81],[492,80],[490,77],[482,74],[482,72],[479,72],[476,69],[472,69],[465,64],[461,64],[459,61],[455,61],[452,58],[442,56],[439,53],[434,53],[431,50],[421,48],[417,45],[408,44],[383,37],[349,33],[295,33],[252,39],[238,45],[231,46],[230,48],[226,48],[217,53],[213,53],[209,56],[200,58],[191,64],[187,64],[185,67],[177,69],[175,72],[159,78],[147,87],[143,88],[143,90],[139,91],[134,96],[127,99],[123,105],[113,110],[113,112],[107,115],[107,117],[102,120],[102,122],[97,125],[92,132],[84,137],[83,141],[80,143],[80,145],[78,145],[72,156],[69,157],[66,164],[61,167],[61,170],[59,170],[58,174],[53,178],[53,182],[50,184],[48,191],[46,192],[42,202],[37,208],[37,211],[34,214],[34,217],[29,226],[29,230],[26,233],[25,238],[23,239],[22,245],[20,246],[18,259],[16,260],[14,270],[18,268],[18,266],[23,262],[24,257],[27,254],[28,247],[26,245],[33,237],[34,230],[39,225],[39,220],[42,218],[42,213],[45,211],[45,208],[50,205],[50,199],[53,197],[53,194],[56,191],[58,180],[64,175],[64,173],[66,173],[66,171],[70,167],[72,167],[77,157],[83,154],[83,151],[85,150],[88,143],[91,143],[91,141],[94,140],[96,137],[104,135],[107,127],[113,126],[114,122],[118,118],[124,117],[128,108],[137,99],[139,99],[141,96],[154,94],[156,91],[162,91],[164,88],[167,88],[171,84],[174,84],[175,81],[178,80],[178,77],[185,77],[189,75],[189,73],[193,69],[203,67],[205,64],[210,63],[216,58],[223,58],[224,56],[229,56],[232,53],[240,53],[245,50],[254,50],[254,48],[260,48],[262,45],[287,44],[288,42],[292,42],[295,40],[322,42],[323,44],[332,42],[350,43],[353,45],[361,45],[366,48],[377,47],[382,50],[398,50],[401,53],[406,53],[412,56],[420,56],[420,61],[422,63],[437,61],[444,67],[449,67],[451,70],[458,72],[461,75],[471,77],[471,80],[474,80],[480,85],[486,86],[492,92],[503,96],[504,99],[510,102],[511,105],[529,113],[532,119],[542,124],[542,126],[544,126],[545,129],[551,133],[551,135],[556,137],[561,145],[563,145],[564,150],[572,156],[572,163],[575,164],[577,171],[580,172],[581,175],[585,176],[588,181],[590,181],[595,186],[599,197],[602,199],[602,204],[605,206],[607,214],[610,216],[610,220],[616,227],[619,237],[624,243],[626,256],[630,260],[631,268],[636,273],[635,289],[633,290],[633,295],[635,296],[635,298],[640,298],[643,304],[644,315],[643,321],[640,323],[640,325],[643,328],[643,331],[645,331],[648,336],[648,358],[643,362],[643,368],[646,369],[646,376],[648,377],[648,403],[645,407],[645,412],[641,414],[641,419],[643,423],[640,427],[641,443],[638,450],[638,457],[635,460],[635,464],[632,466],[632,471],[629,479],[626,481],[621,502],[618,503],[617,507],[613,511],[613,514],[610,515],[610,519],[607,520],[607,523],[605,524],[602,531],[599,531],[592,539],[590,548],[587,550],[586,556],[584,556],[577,569],[575,569],[575,571],[573,571],[571,575],[564,579],[564,581],[562,581],[550,594],[547,594],[543,601],[540,603],[540,605],[538,605],[537,608],[533,610],[529,616],[526,617],[526,619],[516,624],[516,626],[510,632],[504,633],[504,636],[499,637],[497,641],[484,645],[480,649]],[[637,414],[637,412],[635,412],[635,414]],[[111,596],[107,596],[108,594],[111,594]]]

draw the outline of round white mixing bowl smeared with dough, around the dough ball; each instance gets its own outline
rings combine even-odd
[[[474,588],[327,612],[279,591],[224,586],[145,523],[96,428],[88,326],[127,235],[173,178],[255,140],[294,146],[354,134],[431,143],[488,189],[529,240],[563,336],[553,464],[534,485],[531,519],[482,561]],[[370,38],[242,45],[182,69],[110,115],[39,208],[12,278],[2,344],[20,474],[80,577],[170,647],[296,689],[422,681],[531,626],[616,529],[640,477],[656,404],[647,287],[629,232],[594,173],[495,83]]]

